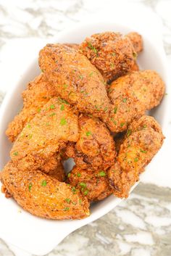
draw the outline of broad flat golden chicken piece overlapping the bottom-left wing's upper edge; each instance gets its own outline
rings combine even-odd
[[[20,170],[54,169],[58,153],[67,141],[78,141],[78,115],[60,98],[50,99],[14,142],[10,156]],[[49,160],[52,165],[49,168]]]

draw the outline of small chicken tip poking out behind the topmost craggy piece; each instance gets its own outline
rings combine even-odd
[[[133,48],[135,49],[136,53],[143,51],[143,38],[137,32],[130,32],[126,35],[131,43],[133,44]]]

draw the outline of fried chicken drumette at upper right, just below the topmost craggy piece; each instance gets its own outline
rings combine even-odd
[[[152,70],[132,72],[114,80],[108,91],[112,110],[104,117],[104,122],[110,131],[118,133],[161,102],[164,82]]]

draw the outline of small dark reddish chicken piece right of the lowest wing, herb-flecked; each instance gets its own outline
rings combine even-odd
[[[107,173],[104,170],[84,170],[75,166],[68,174],[67,182],[80,189],[88,201],[99,201],[112,194]]]

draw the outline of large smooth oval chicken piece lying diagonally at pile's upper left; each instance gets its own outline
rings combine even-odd
[[[68,46],[47,44],[40,51],[39,65],[62,99],[79,112],[98,117],[108,112],[104,80],[83,54]]]

